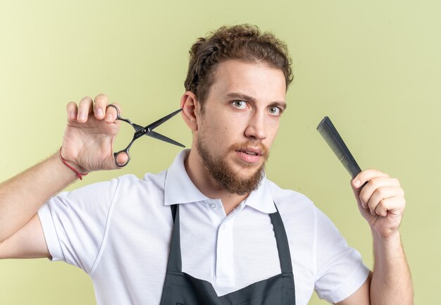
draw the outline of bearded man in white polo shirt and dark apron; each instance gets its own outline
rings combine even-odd
[[[192,149],[158,175],[48,201],[77,177],[117,168],[108,97],[69,103],[59,153],[1,185],[0,258],[79,266],[98,304],[307,304],[313,290],[335,304],[413,304],[398,180],[378,170],[352,180],[373,234],[370,272],[309,199],[264,177],[291,81],[282,42],[222,27],[190,51],[181,107]]]

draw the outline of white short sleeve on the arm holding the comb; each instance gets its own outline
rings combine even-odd
[[[318,297],[337,303],[352,295],[369,275],[358,251],[348,246],[335,225],[316,209]]]

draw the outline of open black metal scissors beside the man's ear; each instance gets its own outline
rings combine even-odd
[[[116,109],[116,120],[123,120],[126,123],[129,123],[130,125],[132,125],[132,127],[135,129],[135,134],[133,135],[133,139],[132,142],[130,142],[128,144],[128,147],[125,147],[125,149],[118,151],[116,153],[113,153],[114,156],[114,160],[115,160],[115,164],[116,166],[122,168],[124,166],[127,165],[127,163],[129,163],[130,161],[130,154],[129,154],[129,149],[132,146],[133,142],[135,142],[135,139],[138,139],[139,137],[142,137],[143,135],[148,135],[149,137],[154,137],[155,139],[160,139],[161,141],[170,143],[170,144],[175,144],[178,145],[179,147],[185,147],[184,145],[176,142],[173,139],[170,139],[164,135],[159,134],[158,132],[154,132],[154,128],[158,127],[159,125],[161,125],[162,123],[166,122],[167,120],[169,120],[170,118],[173,118],[173,116],[177,115],[178,113],[180,113],[182,111],[182,109],[178,109],[177,111],[173,111],[172,113],[168,114],[167,116],[164,116],[163,118],[160,118],[159,120],[156,120],[154,123],[151,123],[145,127],[141,126],[141,125],[137,125],[135,123],[132,123],[129,119],[127,118],[122,118],[120,116],[120,110],[118,109],[117,106],[110,104],[107,107],[113,107]],[[121,153],[125,153],[128,156],[127,161],[125,161],[125,163],[123,164],[119,164],[118,161],[116,161],[116,157],[121,154]]]

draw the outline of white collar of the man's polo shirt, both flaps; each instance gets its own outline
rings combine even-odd
[[[168,168],[164,187],[164,204],[166,206],[211,200],[199,191],[188,176],[184,166],[188,154],[190,154],[190,149],[181,151]],[[259,187],[249,194],[243,204],[263,213],[275,213],[273,197],[266,178],[261,180]]]

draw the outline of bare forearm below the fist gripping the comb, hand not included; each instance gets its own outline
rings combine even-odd
[[[411,273],[399,231],[385,239],[373,230],[373,249],[375,266],[371,281],[371,304],[414,304]]]

